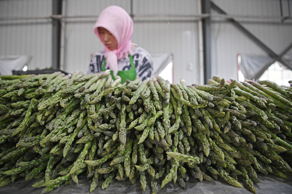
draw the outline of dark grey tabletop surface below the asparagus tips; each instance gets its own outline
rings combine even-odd
[[[260,179],[260,183],[255,184],[256,191],[258,194],[265,193],[265,194],[275,194],[275,193],[292,193],[292,181],[291,180],[284,180],[280,179],[273,175],[262,176],[258,175],[258,179]],[[32,184],[39,181],[32,180],[32,181],[25,181],[24,178],[18,179],[13,184],[9,184],[0,188],[0,193],[11,193],[11,194],[24,194],[24,193],[40,193],[43,188],[34,188]],[[77,193],[89,193],[89,186],[91,180],[88,181],[85,175],[79,176],[79,184],[75,184],[71,182],[67,186],[61,185],[59,188],[54,189],[50,193],[68,193],[68,194],[77,194]],[[98,182],[98,186],[92,193],[151,193],[151,186],[150,182],[147,182],[146,191],[143,192],[140,186],[140,181],[134,185],[131,185],[129,181],[118,181],[114,179],[112,183],[109,185],[108,188],[105,190],[101,190],[102,180]],[[242,194],[251,194],[245,187],[245,182],[242,179],[239,179],[239,182],[244,186],[243,188],[237,188],[231,186],[223,179],[212,180],[212,181],[203,181],[200,183],[194,178],[190,178],[190,180],[186,183],[187,188],[182,189],[178,184],[173,184],[173,182],[168,183],[164,188],[160,190],[161,181],[158,182],[159,193],[204,193],[204,194],[215,194],[215,193],[242,193]]]

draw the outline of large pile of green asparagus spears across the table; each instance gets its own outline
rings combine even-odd
[[[170,181],[185,188],[192,176],[256,193],[258,173],[288,179],[292,89],[231,81],[121,84],[109,71],[1,76],[0,187],[36,178],[32,186],[47,193],[85,173],[90,192],[115,178],[157,193]]]

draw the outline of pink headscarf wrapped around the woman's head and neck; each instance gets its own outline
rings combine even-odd
[[[107,29],[118,42],[118,48],[115,50],[109,50],[102,42],[98,33],[98,27]],[[100,42],[105,46],[106,68],[114,72],[114,76],[118,73],[118,59],[123,58],[124,54],[128,57],[128,54],[133,55],[131,49],[132,42],[131,37],[133,34],[133,20],[130,15],[119,6],[109,6],[102,10],[94,27],[95,35],[99,38]]]

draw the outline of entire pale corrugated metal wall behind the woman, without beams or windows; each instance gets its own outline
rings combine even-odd
[[[292,1],[290,1],[290,12]],[[97,15],[109,5],[123,7],[134,15],[132,42],[150,53],[172,53],[174,81],[180,78],[200,83],[199,15],[200,0],[67,0],[65,15],[66,72],[86,72],[91,54],[102,49],[93,33]],[[280,16],[279,0],[213,0],[230,15]],[[282,13],[288,16],[288,1],[282,1]],[[52,65],[51,19],[3,20],[11,17],[50,16],[52,0],[0,0],[0,55],[32,55],[29,69]],[[291,14],[291,13],[290,13]],[[94,17],[86,17],[88,15]],[[266,55],[265,51],[211,10],[212,75],[237,79],[237,54]],[[77,18],[74,16],[83,16]],[[182,17],[184,16],[184,17]],[[291,42],[291,19],[235,18],[275,53]],[[288,52],[292,54],[292,50]],[[189,66],[191,65],[191,66]],[[193,65],[193,66],[192,66]]]

